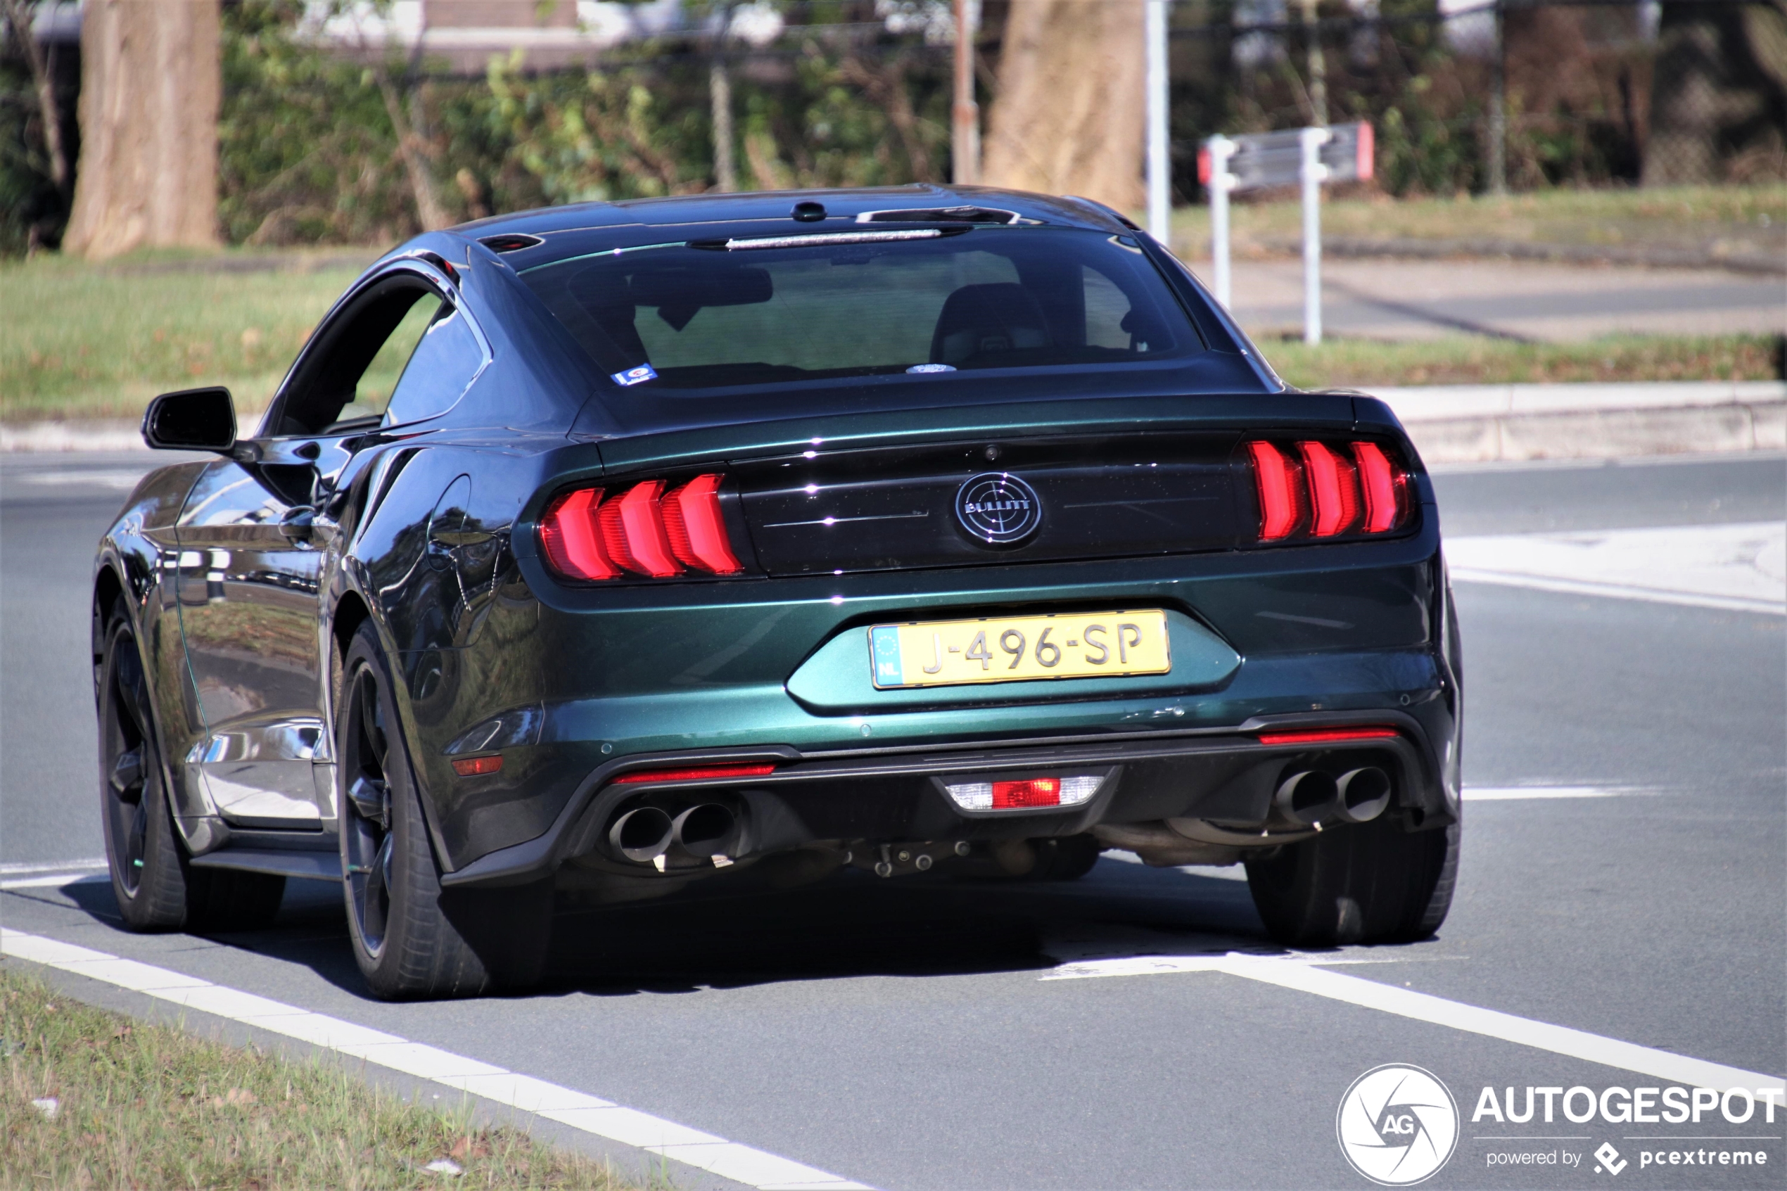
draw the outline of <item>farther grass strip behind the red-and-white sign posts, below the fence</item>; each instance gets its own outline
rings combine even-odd
[[[1297,239],[1296,195],[1238,198],[1229,237],[1240,255],[1265,241]],[[1322,236],[1358,239],[1514,241],[1598,248],[1692,250],[1710,255],[1787,255],[1787,187],[1658,186],[1640,189],[1544,189],[1458,198],[1337,196],[1322,204]],[[1187,259],[1210,254],[1210,207],[1181,207],[1172,243]]]

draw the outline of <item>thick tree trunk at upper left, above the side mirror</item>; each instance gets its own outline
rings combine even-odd
[[[88,0],[64,252],[218,241],[218,0]]]

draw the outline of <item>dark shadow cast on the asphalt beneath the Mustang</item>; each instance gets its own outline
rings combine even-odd
[[[63,895],[118,927],[111,886]],[[264,930],[206,936],[366,996],[340,887],[293,880]],[[1126,955],[1279,950],[1244,880],[1103,859],[1072,882],[881,880],[838,873],[801,889],[709,886],[654,902],[561,900],[545,982],[524,996],[627,996],[849,977],[1035,971]]]

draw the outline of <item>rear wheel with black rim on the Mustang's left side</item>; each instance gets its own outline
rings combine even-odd
[[[390,668],[370,623],[343,661],[336,759],[348,932],[372,993],[477,996],[536,984],[552,923],[550,882],[441,889]]]

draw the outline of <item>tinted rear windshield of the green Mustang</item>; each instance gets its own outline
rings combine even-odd
[[[524,279],[604,373],[642,395],[1122,368],[1203,348],[1135,239],[1072,229],[650,245],[541,264]]]

